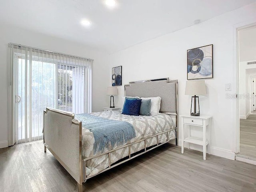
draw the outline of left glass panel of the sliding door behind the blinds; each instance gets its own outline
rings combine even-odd
[[[56,108],[56,64],[17,58],[17,141],[26,142],[42,138],[43,110]]]

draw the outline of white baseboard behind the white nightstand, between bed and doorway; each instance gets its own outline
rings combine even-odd
[[[181,146],[181,139],[179,139],[179,146]],[[184,147],[188,148],[187,142],[185,142]],[[190,149],[197,150],[200,152],[203,151],[203,147],[200,145],[196,145],[196,144],[190,144]],[[208,147],[206,147],[206,153],[208,153]],[[234,152],[223,150],[223,149],[216,148],[216,147],[211,147],[211,154],[219,156],[219,157],[223,157],[226,159],[231,159],[231,160],[235,160],[235,156],[236,156],[236,154]]]

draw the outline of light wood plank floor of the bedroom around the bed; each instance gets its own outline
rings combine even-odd
[[[42,140],[0,149],[0,192],[76,192]],[[84,192],[254,192],[256,166],[165,144],[84,184]]]

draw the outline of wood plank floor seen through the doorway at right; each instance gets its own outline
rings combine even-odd
[[[240,153],[256,159],[256,115],[240,119]]]

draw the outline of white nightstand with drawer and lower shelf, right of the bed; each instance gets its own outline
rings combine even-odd
[[[206,146],[208,145],[208,154],[211,151],[211,118],[212,116],[202,115],[202,116],[182,116],[182,128],[181,128],[181,153],[184,153],[184,142],[188,143],[188,149],[190,148],[189,144],[197,144],[203,146],[203,159],[206,160]],[[188,137],[184,138],[184,127],[188,125]],[[202,131],[202,138],[190,136],[190,126],[200,127]],[[209,134],[207,137],[206,128],[209,129]]]

